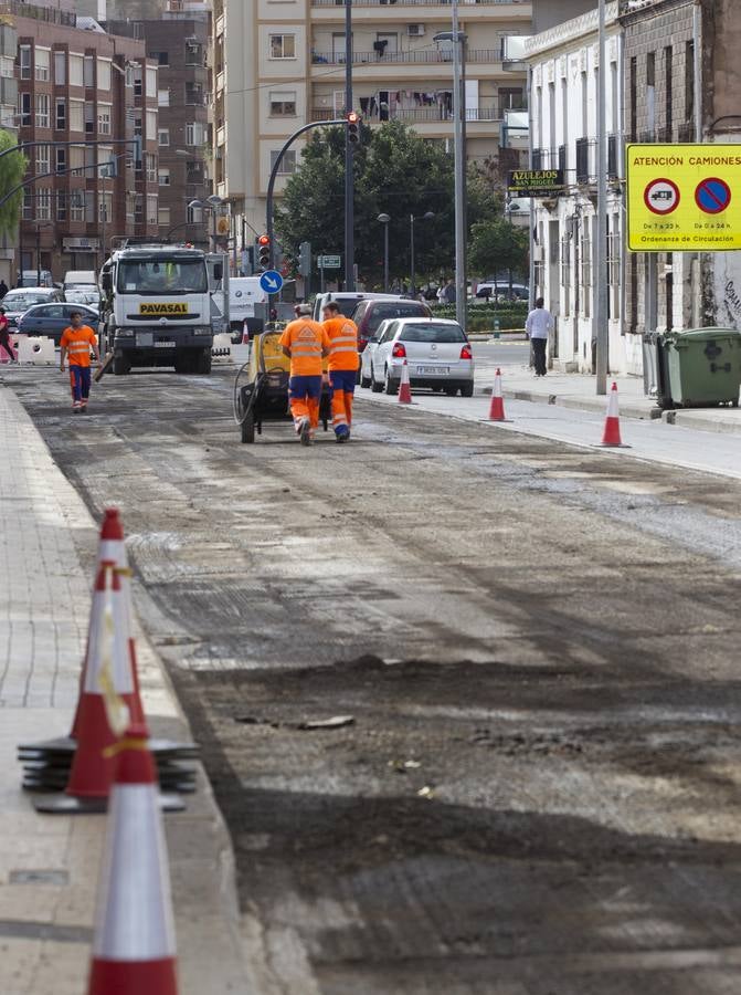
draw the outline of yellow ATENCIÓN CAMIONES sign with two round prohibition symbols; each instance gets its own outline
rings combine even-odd
[[[741,145],[628,145],[633,252],[741,249]]]

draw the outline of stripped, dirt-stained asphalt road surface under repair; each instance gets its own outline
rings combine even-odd
[[[124,513],[264,992],[741,988],[741,483],[362,397],[349,446],[242,446],[219,371],[87,419],[13,383]]]

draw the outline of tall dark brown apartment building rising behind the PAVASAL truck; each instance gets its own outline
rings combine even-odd
[[[157,182],[158,228],[162,239],[188,239],[208,244],[208,217],[189,209],[211,193],[208,50],[211,25],[207,17],[167,6],[161,18],[106,21],[114,34],[142,38],[148,57],[158,66],[159,105]]]

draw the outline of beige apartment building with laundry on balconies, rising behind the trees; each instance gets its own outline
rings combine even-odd
[[[506,39],[529,33],[530,17],[530,3],[519,0],[461,4],[469,159],[496,159],[507,109],[525,104],[526,74],[511,72]],[[401,119],[452,147],[453,53],[449,42],[434,41],[451,30],[449,2],[356,0],[352,18],[354,109],[371,125]],[[345,113],[345,6],[214,0],[213,24],[214,189],[262,231],[271,168],[286,138]],[[286,155],[284,177],[300,148]]]

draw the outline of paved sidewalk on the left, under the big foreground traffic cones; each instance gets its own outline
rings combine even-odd
[[[98,531],[4,387],[0,516],[0,992],[82,995],[105,817],[38,815],[15,747],[70,731]],[[137,639],[152,733],[190,739],[159,660]],[[241,955],[231,844],[202,772],[186,802],[165,819],[180,993],[256,992]]]

